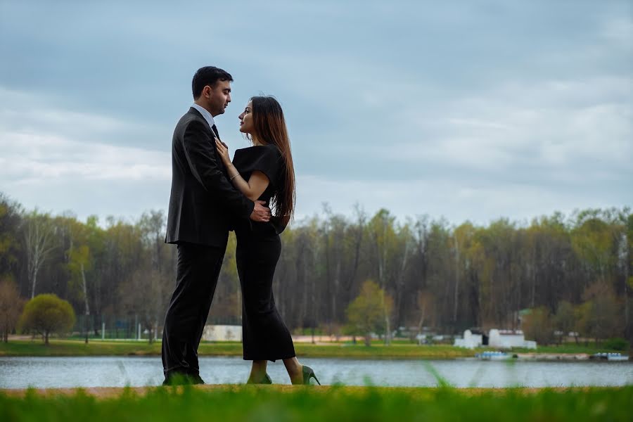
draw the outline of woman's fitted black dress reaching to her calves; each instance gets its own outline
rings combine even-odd
[[[233,165],[243,179],[259,170],[270,183],[260,200],[269,203],[283,188],[286,165],[279,149],[267,144],[235,151]],[[279,219],[241,220],[236,224],[236,262],[242,288],[242,338],[245,360],[287,359],[295,356],[293,339],[275,307],[272,281],[281,255]]]

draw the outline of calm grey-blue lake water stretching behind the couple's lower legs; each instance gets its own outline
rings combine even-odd
[[[458,360],[301,359],[322,384],[433,387],[433,372],[455,387],[568,387],[633,384],[632,362],[486,362]],[[250,362],[200,357],[207,384],[244,383]],[[289,384],[282,362],[273,383]],[[0,388],[123,387],[162,383],[160,357],[0,357]]]

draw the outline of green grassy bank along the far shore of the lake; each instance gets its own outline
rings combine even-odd
[[[484,349],[481,349],[484,350]],[[354,359],[454,359],[473,357],[481,350],[467,350],[449,345],[393,344],[388,347],[373,344],[371,347],[357,344],[333,343],[332,345],[295,344],[300,357],[348,357]],[[530,351],[530,350],[526,350]],[[595,353],[609,352],[600,347],[568,345],[561,347],[539,347],[539,353]],[[201,356],[241,356],[241,343],[201,343]],[[530,352],[533,352],[530,351]],[[91,340],[87,345],[82,340],[51,340],[45,346],[41,340],[13,340],[0,343],[0,356],[158,356],[160,343],[149,344],[137,341]]]

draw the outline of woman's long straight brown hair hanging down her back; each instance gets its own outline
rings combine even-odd
[[[295,167],[293,155],[290,153],[290,139],[286,120],[283,118],[281,105],[272,96],[254,96],[252,101],[252,121],[257,138],[272,143],[279,148],[281,156],[286,162],[286,172],[283,174],[283,186],[279,186],[274,196],[274,215],[281,219],[285,226],[293,217],[295,210]]]

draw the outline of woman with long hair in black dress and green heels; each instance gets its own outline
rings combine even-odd
[[[239,115],[240,132],[252,146],[235,151],[233,162],[226,145],[217,151],[229,178],[250,200],[272,203],[270,222],[236,223],[236,262],[242,287],[242,333],[245,360],[252,360],[248,383],[271,383],[267,362],[282,359],[293,384],[318,383],[314,371],[299,363],[290,331],[275,307],[272,281],[281,254],[279,234],[290,221],[295,205],[295,171],[281,106],[270,96],[250,99]]]

